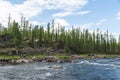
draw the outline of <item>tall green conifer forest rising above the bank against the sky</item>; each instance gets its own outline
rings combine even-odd
[[[5,38],[4,38],[5,37]],[[49,48],[63,49],[66,53],[108,53],[120,52],[120,38],[117,40],[112,33],[102,32],[99,29],[89,31],[74,26],[66,29],[65,26],[55,26],[54,20],[43,25],[32,25],[21,16],[21,23],[11,21],[8,17],[8,26],[0,25],[0,48]]]

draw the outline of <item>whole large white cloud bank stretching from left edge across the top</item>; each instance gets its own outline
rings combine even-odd
[[[65,15],[85,14],[77,12],[88,3],[88,0],[24,0],[21,4],[13,4],[10,0],[0,0],[0,23],[7,26],[8,15],[11,14],[12,20],[20,22],[21,15],[28,20],[43,13],[43,11],[56,10]],[[59,14],[58,14],[59,15]]]

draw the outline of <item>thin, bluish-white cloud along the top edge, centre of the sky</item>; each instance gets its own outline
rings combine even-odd
[[[39,2],[44,2],[48,10],[75,11],[85,6],[88,0],[40,0]]]

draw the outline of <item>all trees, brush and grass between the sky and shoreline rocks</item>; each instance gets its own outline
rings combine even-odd
[[[8,26],[0,25],[1,62],[21,58],[23,62],[27,62],[25,59],[52,62],[53,58],[69,62],[73,58],[119,57],[119,53],[120,37],[117,40],[108,31],[90,32],[74,26],[66,29],[59,24],[56,26],[54,20],[47,26],[32,25],[23,16],[18,24],[11,21],[10,15]]]

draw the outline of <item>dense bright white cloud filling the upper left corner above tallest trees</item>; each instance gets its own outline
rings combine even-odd
[[[42,12],[41,8],[33,4],[35,4],[33,0],[30,2],[25,1],[23,4],[12,4],[6,0],[0,0],[0,23],[7,26],[9,14],[11,14],[12,20],[15,19],[17,22],[20,22],[22,14],[29,19]]]

